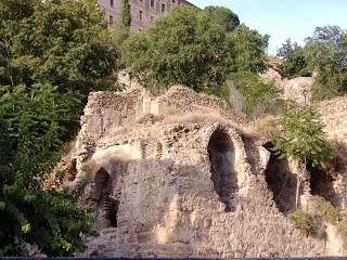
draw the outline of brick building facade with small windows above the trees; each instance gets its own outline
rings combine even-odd
[[[112,25],[121,15],[124,0],[100,0],[100,8]],[[167,14],[175,6],[193,5],[187,0],[129,0],[131,29],[142,29],[155,18]]]

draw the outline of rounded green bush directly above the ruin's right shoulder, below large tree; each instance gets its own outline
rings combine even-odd
[[[249,72],[231,74],[226,84],[235,88],[244,98],[242,112],[248,116],[277,114],[284,101],[280,99],[279,90],[272,82],[264,82],[260,77]]]

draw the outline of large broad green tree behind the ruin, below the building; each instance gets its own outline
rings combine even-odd
[[[265,67],[265,38],[239,27],[228,9],[177,8],[132,35],[123,58],[133,76],[155,91],[178,83],[216,93],[230,73]]]

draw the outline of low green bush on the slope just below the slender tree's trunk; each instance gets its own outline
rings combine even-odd
[[[303,209],[294,209],[290,211],[287,217],[294,221],[295,226],[306,235],[314,235],[318,226],[314,224],[312,216]]]

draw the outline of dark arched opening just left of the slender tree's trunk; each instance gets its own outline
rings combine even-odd
[[[279,155],[272,152],[272,143],[267,143],[264,147],[271,153],[265,171],[266,181],[278,209],[286,212],[295,208],[296,174],[290,171],[287,159],[280,159]]]

